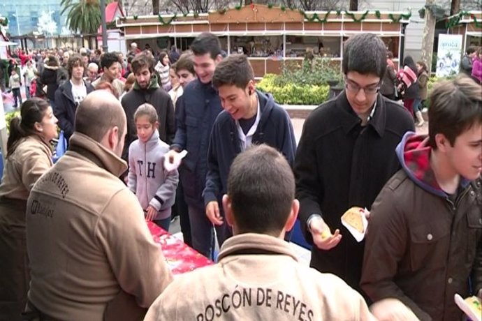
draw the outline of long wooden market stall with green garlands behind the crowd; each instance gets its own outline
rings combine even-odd
[[[303,12],[251,4],[211,13],[122,17],[116,25],[124,29],[129,43],[142,48],[144,41],[159,50],[170,45],[186,50],[200,33],[214,33],[227,54],[247,54],[256,77],[263,77],[279,73],[286,61],[302,61],[306,52],[341,65],[344,40],[360,32],[379,35],[397,64],[410,17],[411,13],[379,10]]]

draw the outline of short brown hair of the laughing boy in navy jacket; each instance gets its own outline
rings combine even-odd
[[[231,54],[216,66],[212,86],[219,88],[227,84],[244,89],[250,80],[254,80],[254,72],[247,57],[244,54]]]

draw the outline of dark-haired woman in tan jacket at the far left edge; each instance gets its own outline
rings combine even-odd
[[[49,142],[57,137],[57,118],[47,101],[25,101],[20,115],[10,121],[0,184],[0,321],[20,320],[27,301],[27,198],[37,179],[52,166]]]

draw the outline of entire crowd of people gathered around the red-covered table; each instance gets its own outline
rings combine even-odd
[[[344,91],[297,144],[247,57],[224,57],[212,33],[159,57],[133,43],[125,73],[119,53],[59,57],[37,62],[45,97],[10,123],[0,320],[460,320],[455,294],[482,299],[472,78],[435,85],[417,135],[425,64],[395,72],[383,41],[357,34]],[[57,126],[68,150],[54,164]],[[351,207],[370,210],[364,241],[340,220]],[[217,264],[173,278],[145,221],[168,230],[175,214]],[[297,220],[310,267],[289,246]]]

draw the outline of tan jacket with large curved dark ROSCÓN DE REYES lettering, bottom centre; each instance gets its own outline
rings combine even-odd
[[[144,320],[213,318],[376,320],[342,279],[302,266],[286,241],[263,234],[228,239],[218,264],[176,278]]]

